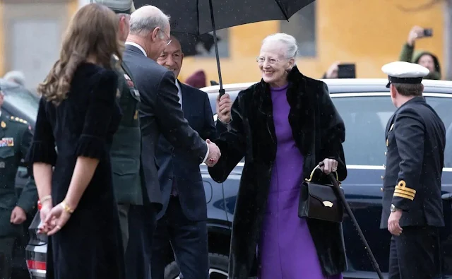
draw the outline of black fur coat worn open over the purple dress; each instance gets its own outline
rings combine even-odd
[[[289,73],[287,100],[295,143],[304,155],[304,178],[325,158],[339,162],[338,176],[347,177],[342,143],[345,126],[322,81],[303,76],[295,66]],[[216,182],[227,179],[245,156],[232,224],[229,278],[256,276],[256,244],[266,210],[276,142],[270,87],[261,81],[243,90],[232,105],[232,122],[215,143],[222,156],[209,167]],[[219,121],[218,121],[219,122]],[[307,220],[325,275],[347,269],[340,224]]]

